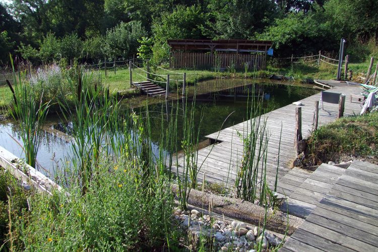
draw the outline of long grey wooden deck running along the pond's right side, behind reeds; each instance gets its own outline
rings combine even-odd
[[[336,81],[324,83],[333,86],[330,90],[331,92],[346,95],[344,116],[359,114],[361,110],[359,103],[350,102],[349,100],[351,94],[360,92],[361,89],[358,86]],[[319,99],[320,93],[301,100],[303,138],[308,136],[312,130],[314,103]],[[321,166],[319,171],[310,173],[302,169],[289,168],[295,157],[293,142],[296,107],[296,105],[290,104],[264,114],[261,118],[267,120],[267,127],[270,132],[267,162],[269,186],[271,188],[274,187],[276,178],[278,146],[282,125],[277,192],[289,197],[288,207],[290,214],[305,217],[328,193],[338,176],[342,174],[342,170],[336,167],[332,171],[327,170],[325,172],[323,170],[325,167]],[[319,125],[334,121],[337,114],[338,104],[324,103],[324,109],[319,110]],[[249,121],[244,121],[207,136],[217,143],[198,151],[198,166],[201,167],[198,178],[202,178],[203,173],[206,173],[206,180],[210,182],[222,183],[226,186],[234,184],[243,151],[243,143],[238,137],[238,133],[247,134],[248,124]],[[178,160],[179,168],[182,167],[182,164],[183,160],[181,158]],[[334,179],[330,179],[330,177],[334,177]]]

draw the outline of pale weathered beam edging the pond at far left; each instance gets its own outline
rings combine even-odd
[[[0,146],[0,166],[4,167],[4,169],[9,171],[17,179],[33,186],[42,194],[52,196],[53,190],[57,190],[59,192],[62,191],[60,185],[25,163],[19,157],[13,155],[2,146]]]

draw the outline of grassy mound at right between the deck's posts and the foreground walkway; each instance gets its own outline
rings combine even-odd
[[[378,112],[338,119],[313,132],[307,141],[306,166],[352,157],[378,164]]]

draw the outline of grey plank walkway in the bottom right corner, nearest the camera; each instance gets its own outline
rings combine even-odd
[[[354,161],[280,251],[378,251],[378,165]]]

